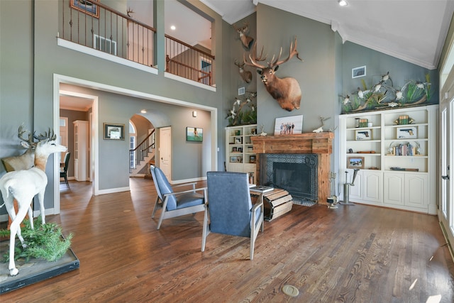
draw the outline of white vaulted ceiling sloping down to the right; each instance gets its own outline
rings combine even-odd
[[[343,41],[435,69],[454,11],[453,0],[200,0],[233,24],[266,4],[331,25]]]

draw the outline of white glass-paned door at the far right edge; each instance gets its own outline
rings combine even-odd
[[[451,175],[454,161],[454,99],[440,106],[440,207],[438,216],[451,245],[454,244],[454,197]]]

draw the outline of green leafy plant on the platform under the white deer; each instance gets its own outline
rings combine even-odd
[[[62,228],[55,223],[41,224],[41,219],[34,220],[35,229],[31,229],[30,221],[24,220],[21,228],[23,239],[27,245],[23,248],[21,241],[16,241],[15,258],[43,258],[53,262],[62,258],[71,246],[73,234],[62,237]],[[0,236],[9,236],[8,230],[0,230]],[[4,262],[9,261],[9,253],[4,254]]]

